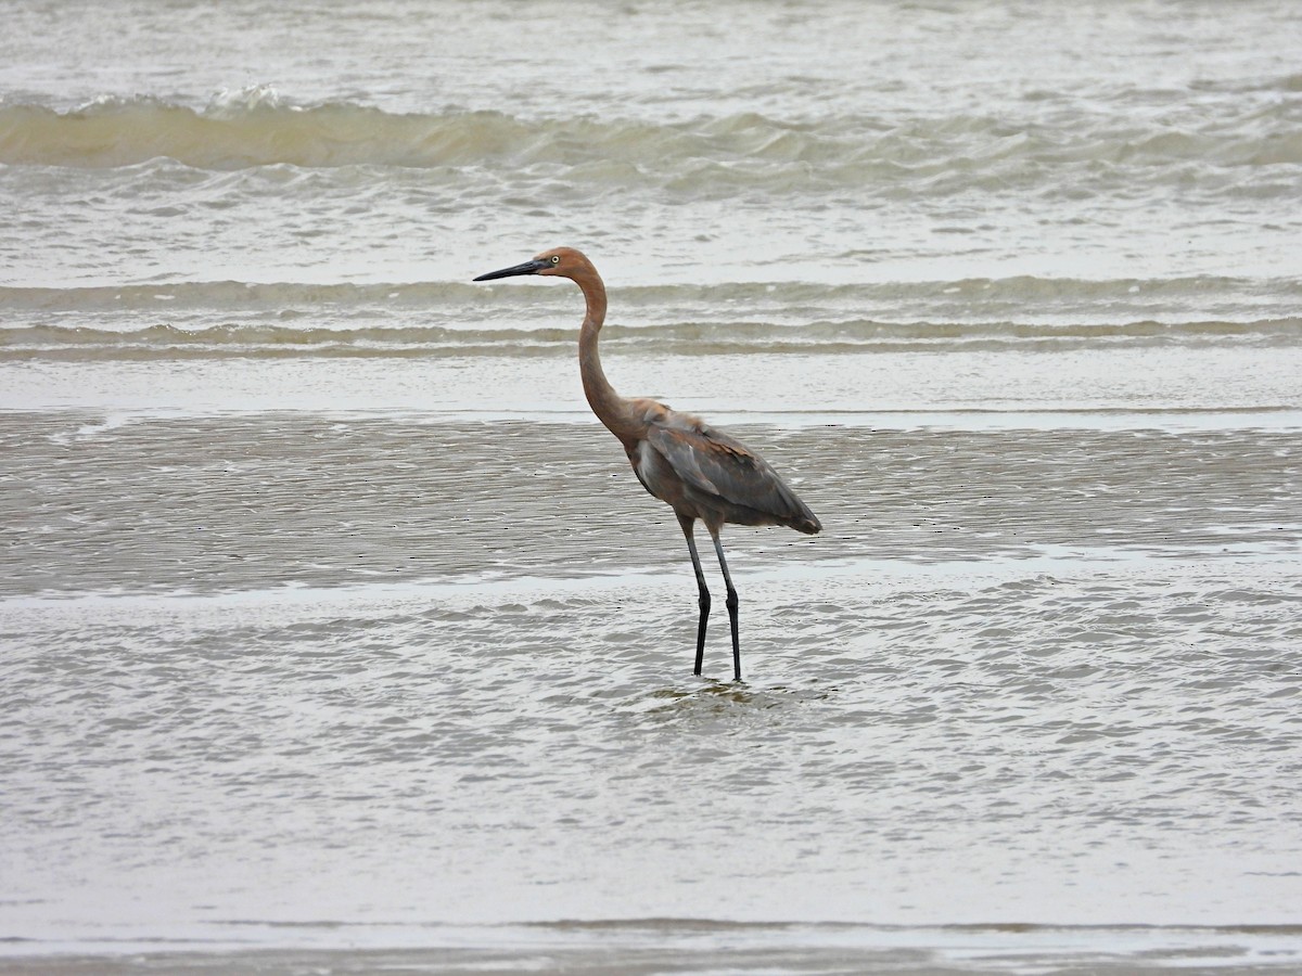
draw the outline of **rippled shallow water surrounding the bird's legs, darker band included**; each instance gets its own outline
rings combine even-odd
[[[42,937],[1292,920],[1295,431],[742,428],[825,535],[729,534],[734,686],[591,426],[66,420],[4,453]]]

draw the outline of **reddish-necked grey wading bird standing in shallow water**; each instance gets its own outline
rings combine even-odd
[[[700,570],[693,528],[706,523],[719,554],[719,569],[728,587],[728,619],[732,623],[733,671],[741,681],[741,644],[737,638],[737,590],[728,575],[728,562],[719,541],[725,522],[742,526],[786,526],[812,535],[823,528],[814,513],[759,454],[690,414],[680,414],[654,400],[625,400],[602,370],[596,336],[605,323],[605,285],[592,262],[572,247],[544,251],[530,262],[480,275],[491,281],[514,275],[565,277],[583,290],[587,315],[578,333],[578,364],[583,393],[592,413],[605,424],[629,455],[633,474],[651,495],[667,502],[678,517],[691,553],[700,591],[697,623],[697,674],[706,655],[706,623],[710,619],[710,588]]]

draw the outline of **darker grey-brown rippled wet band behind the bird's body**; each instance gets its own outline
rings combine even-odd
[[[1288,429],[730,429],[827,526],[729,528],[742,573],[1282,556],[1302,532]],[[0,448],[13,596],[686,570],[672,511],[595,423],[5,414]]]

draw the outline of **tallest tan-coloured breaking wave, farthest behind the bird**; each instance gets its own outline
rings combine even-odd
[[[650,121],[565,117],[523,120],[492,111],[391,113],[335,102],[289,104],[264,87],[224,94],[203,108],[158,98],[104,98],[56,111],[0,104],[0,163],[113,168],[167,157],[230,170],[253,167],[375,165],[441,168],[509,163],[578,169],[585,181],[664,185],[708,178],[781,189],[792,181],[854,186],[872,180],[935,181],[990,173],[1009,178],[1043,167],[1112,164],[1212,168],[1302,164],[1302,130],[1290,103],[1277,118],[1243,118],[1154,131],[1090,120],[1061,126],[1026,118],[941,116],[891,125],[833,116],[783,121],[746,112]]]

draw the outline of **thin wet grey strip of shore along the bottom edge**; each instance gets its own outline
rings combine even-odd
[[[566,972],[652,976],[664,972],[947,973],[1038,972],[1059,976],[1169,971],[1286,973],[1302,950],[1295,927],[1049,928],[1034,925],[893,929],[871,925],[746,924],[681,919],[556,923],[467,929],[396,928],[385,933],[320,927],[318,947],[251,947],[276,941],[273,928],[246,930],[223,949],[168,951],[120,946],[109,955],[13,958],[5,971],[62,976],[141,972]],[[242,930],[245,929],[245,930]],[[358,943],[388,942],[384,947]],[[348,942],[348,949],[326,947]],[[419,945],[408,945],[408,943]],[[243,945],[241,945],[243,943]],[[437,947],[430,947],[430,943]]]

